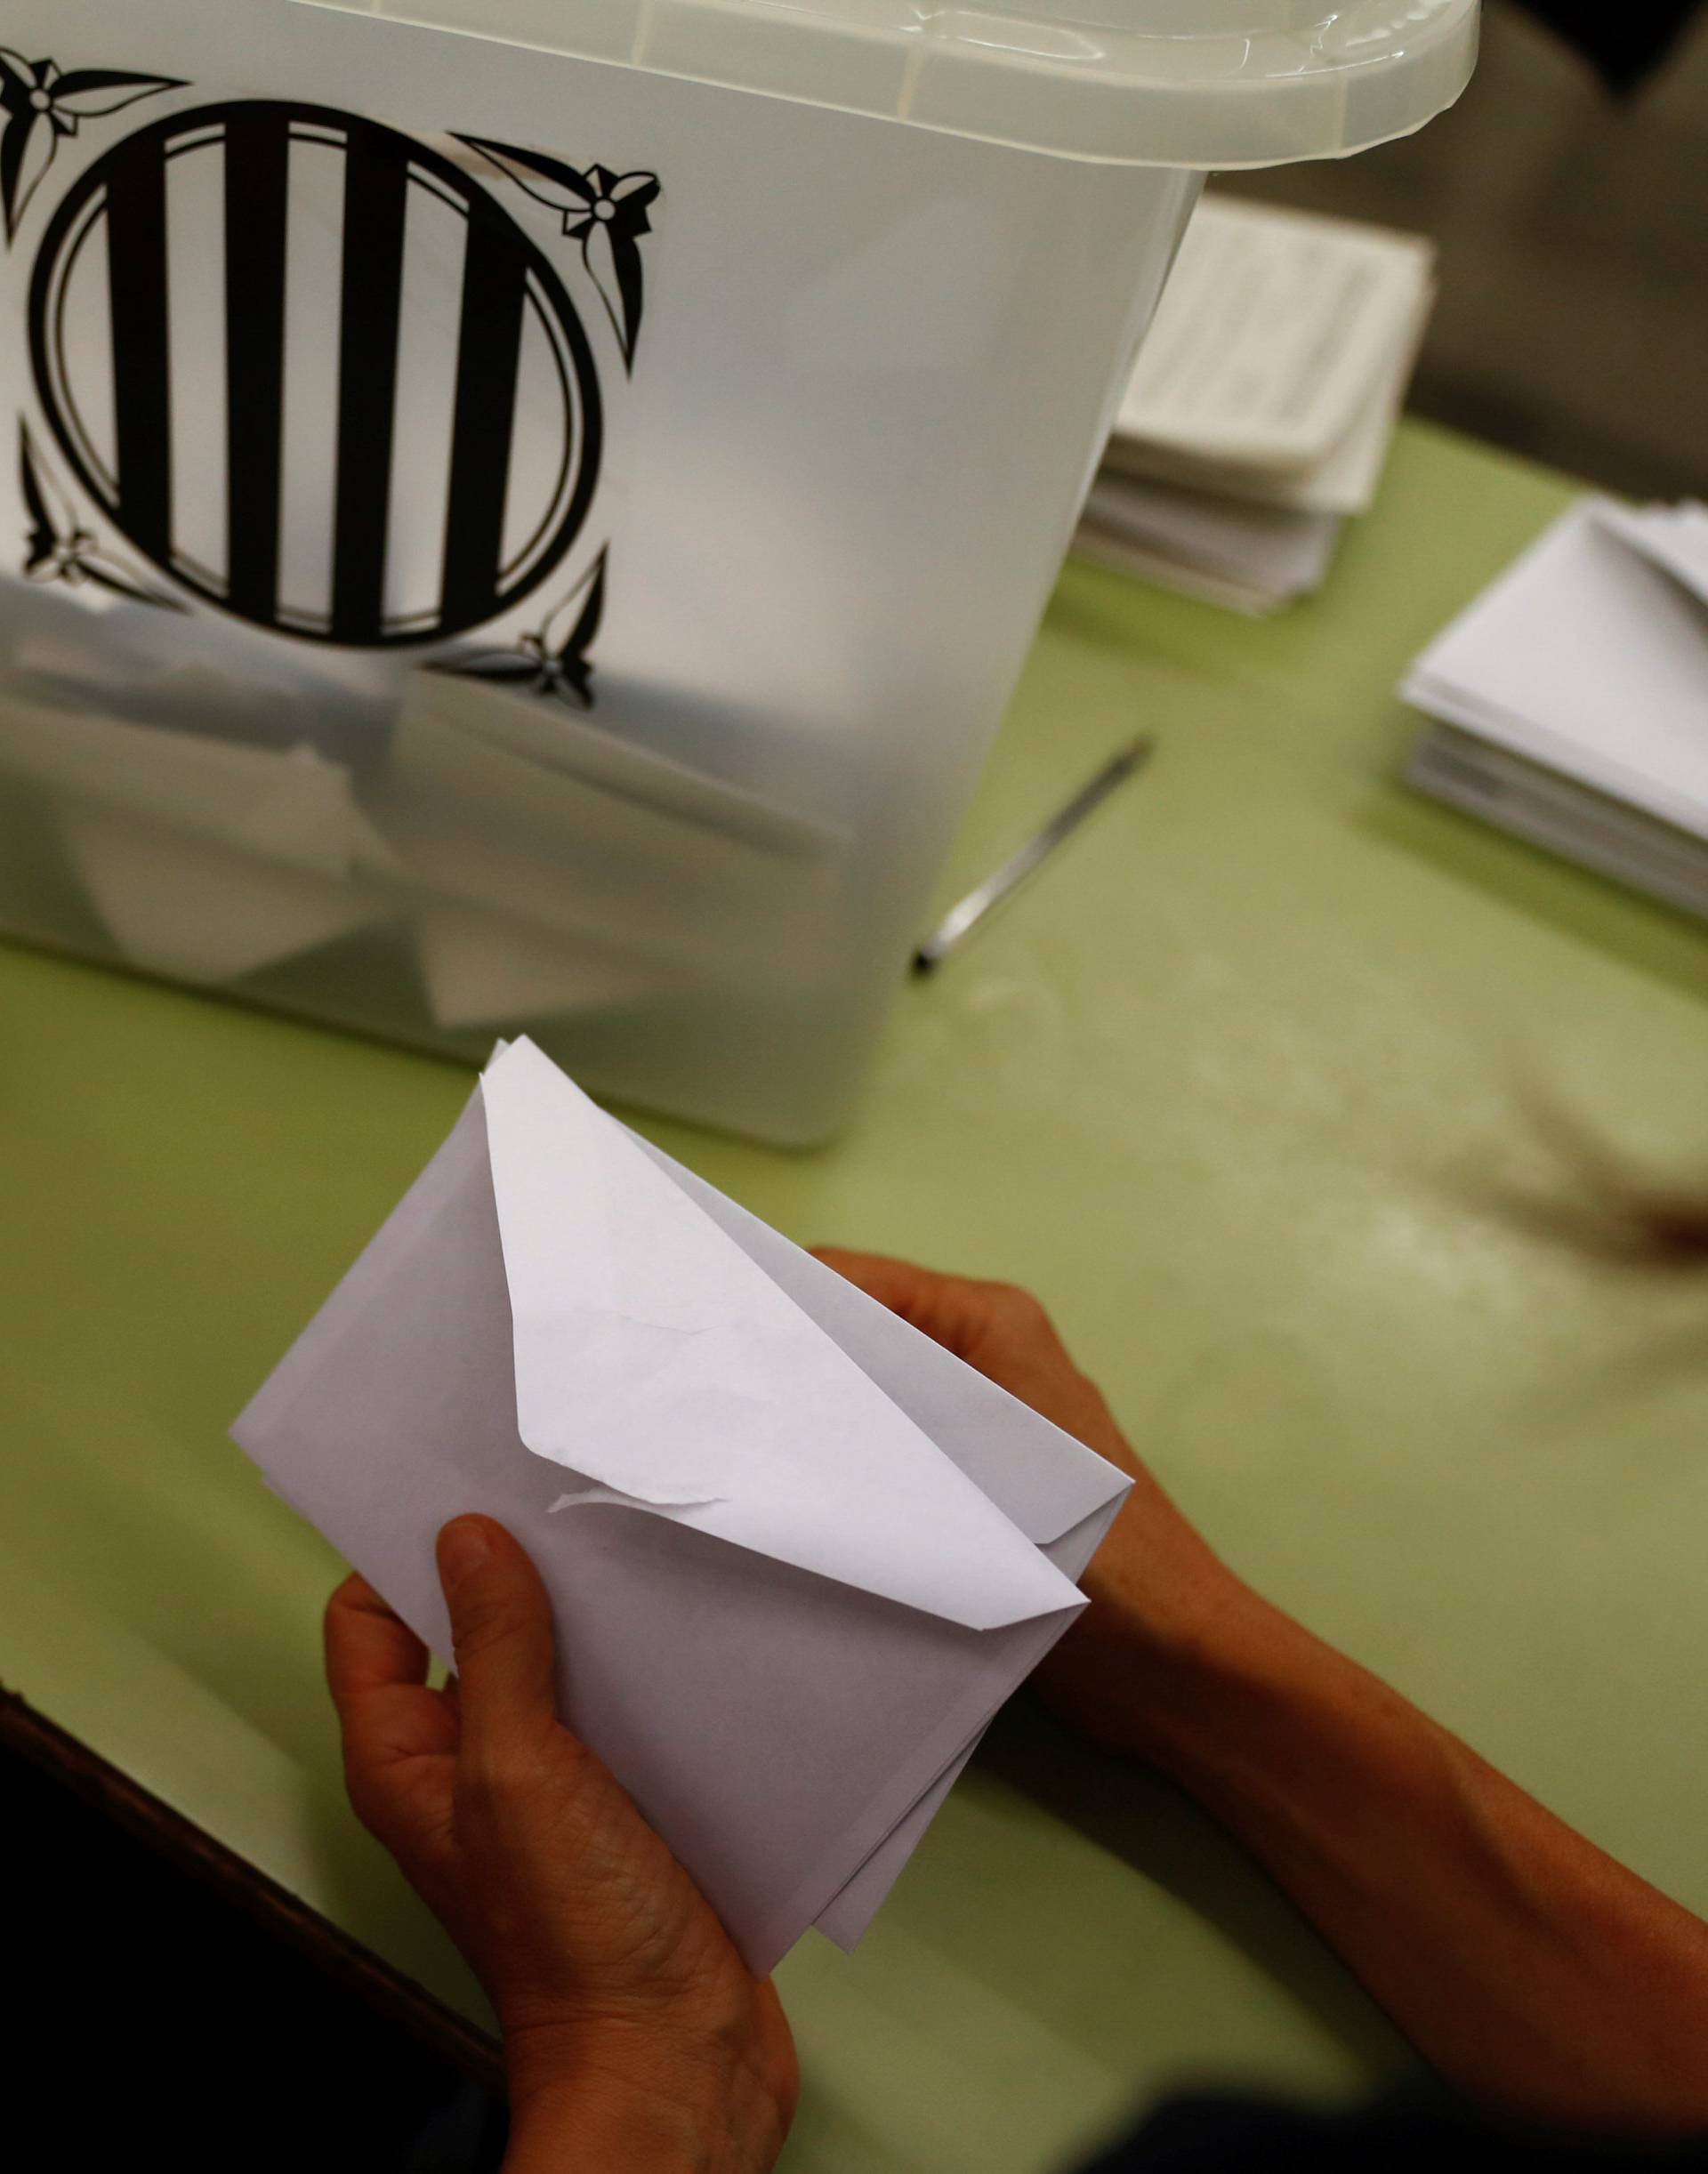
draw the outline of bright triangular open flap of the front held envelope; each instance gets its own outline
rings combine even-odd
[[[535,1454],[635,1509],[969,1628],[1080,1607],[1028,1535],[532,1044],[511,1044],[480,1091],[517,1428]]]

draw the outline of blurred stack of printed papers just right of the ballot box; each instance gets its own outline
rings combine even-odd
[[[1434,248],[1206,198],[1073,550],[1239,611],[1319,589],[1376,498],[1434,304]]]

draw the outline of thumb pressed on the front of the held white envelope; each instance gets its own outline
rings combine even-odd
[[[491,1517],[452,1517],[439,1535],[465,1739],[556,1717],[552,1604],[526,1548]]]

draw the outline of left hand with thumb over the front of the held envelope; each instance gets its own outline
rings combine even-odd
[[[361,1578],[326,1611],[350,1802],[487,1987],[506,2174],[539,2163],[756,2174],[795,2052],[693,1881],[556,1717],[539,1572],[489,1517],[439,1535],[456,1681]]]

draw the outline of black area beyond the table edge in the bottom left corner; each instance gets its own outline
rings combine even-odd
[[[498,2165],[502,2117],[463,2074],[228,1891],[9,1746],[0,1807],[9,2078],[63,2133],[59,2163],[128,2167],[154,2141],[176,2174]],[[461,2157],[426,2148],[459,2137]]]

